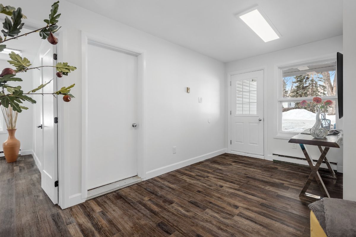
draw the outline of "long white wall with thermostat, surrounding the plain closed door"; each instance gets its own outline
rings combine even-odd
[[[25,0],[3,2],[3,4],[21,6],[29,20],[32,18],[42,25],[42,20],[48,17],[51,3],[45,0],[37,0],[36,4]],[[62,35],[65,36],[62,42],[64,44],[62,56],[64,61],[78,68],[77,71],[61,79],[63,84],[70,85],[73,82],[76,84],[73,90],[76,98],[70,103],[61,105],[65,111],[63,119],[68,121],[64,124],[65,133],[62,140],[64,146],[62,156],[67,162],[63,168],[68,172],[68,176],[64,177],[66,180],[62,180],[66,184],[63,208],[82,201],[80,200],[81,30],[116,41],[118,46],[127,45],[146,52],[145,170],[148,172],[147,177],[225,152],[223,63],[66,1],[60,2],[59,11],[62,13],[59,25],[63,27]],[[105,93],[105,86],[110,85],[101,85],[98,90],[99,96]],[[187,86],[191,90],[189,94],[185,92]],[[203,97],[202,104],[198,103],[198,97]],[[117,95],[117,99],[119,98],[120,95]],[[115,103],[115,100],[111,103]],[[176,154],[172,153],[173,146],[177,146]],[[194,157],[198,158],[187,161]]]

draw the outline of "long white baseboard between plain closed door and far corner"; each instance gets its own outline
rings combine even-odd
[[[151,171],[146,172],[146,178],[144,180],[147,180],[147,179],[159,176],[161,174],[165,174],[165,173],[174,171],[176,169],[183,168],[185,166],[192,165],[192,164],[200,162],[200,161],[204,161],[206,159],[209,159],[209,158],[212,158],[214,156],[218,156],[218,155],[221,155],[221,154],[224,154],[224,153],[226,153],[226,148],[221,149],[221,150],[217,150],[217,151],[213,151],[213,152],[207,153],[205,155],[201,155],[201,156],[197,156],[197,157],[194,157],[194,158],[190,158],[190,159],[185,160],[185,161],[180,161],[180,162],[174,163],[172,165],[164,166],[164,167],[161,167],[161,168],[158,168],[158,169],[153,169]]]

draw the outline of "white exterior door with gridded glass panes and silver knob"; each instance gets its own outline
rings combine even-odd
[[[263,70],[231,75],[231,153],[263,155]]]

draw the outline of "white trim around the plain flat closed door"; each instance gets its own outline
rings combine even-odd
[[[88,163],[88,44],[137,56],[137,176],[146,178],[145,172],[145,115],[146,115],[146,52],[145,50],[110,41],[82,31],[82,193],[81,198],[88,196],[87,163]]]

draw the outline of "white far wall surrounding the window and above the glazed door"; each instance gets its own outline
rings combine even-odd
[[[226,72],[264,68],[265,71],[265,93],[267,95],[267,109],[265,111],[265,126],[267,126],[267,152],[265,151],[265,158],[268,160],[284,160],[288,162],[298,162],[298,160],[292,158],[282,158],[272,156],[272,154],[288,155],[295,157],[303,157],[302,150],[292,149],[292,144],[288,144],[288,139],[277,139],[274,136],[277,135],[276,121],[277,121],[277,92],[278,92],[278,75],[276,75],[277,65],[283,65],[293,63],[300,60],[312,59],[320,57],[326,54],[332,53],[336,56],[336,52],[342,51],[342,36],[325,39],[323,41],[313,42],[309,44],[300,45],[293,48],[280,50],[277,52],[264,54],[252,58],[242,59],[226,63]],[[320,152],[318,147],[309,146],[309,151],[314,157],[319,157]],[[267,155],[267,156],[266,156]],[[328,153],[329,161],[336,161],[338,163],[338,171],[342,172],[342,147],[341,149],[332,148]],[[307,165],[304,161],[303,164]]]

